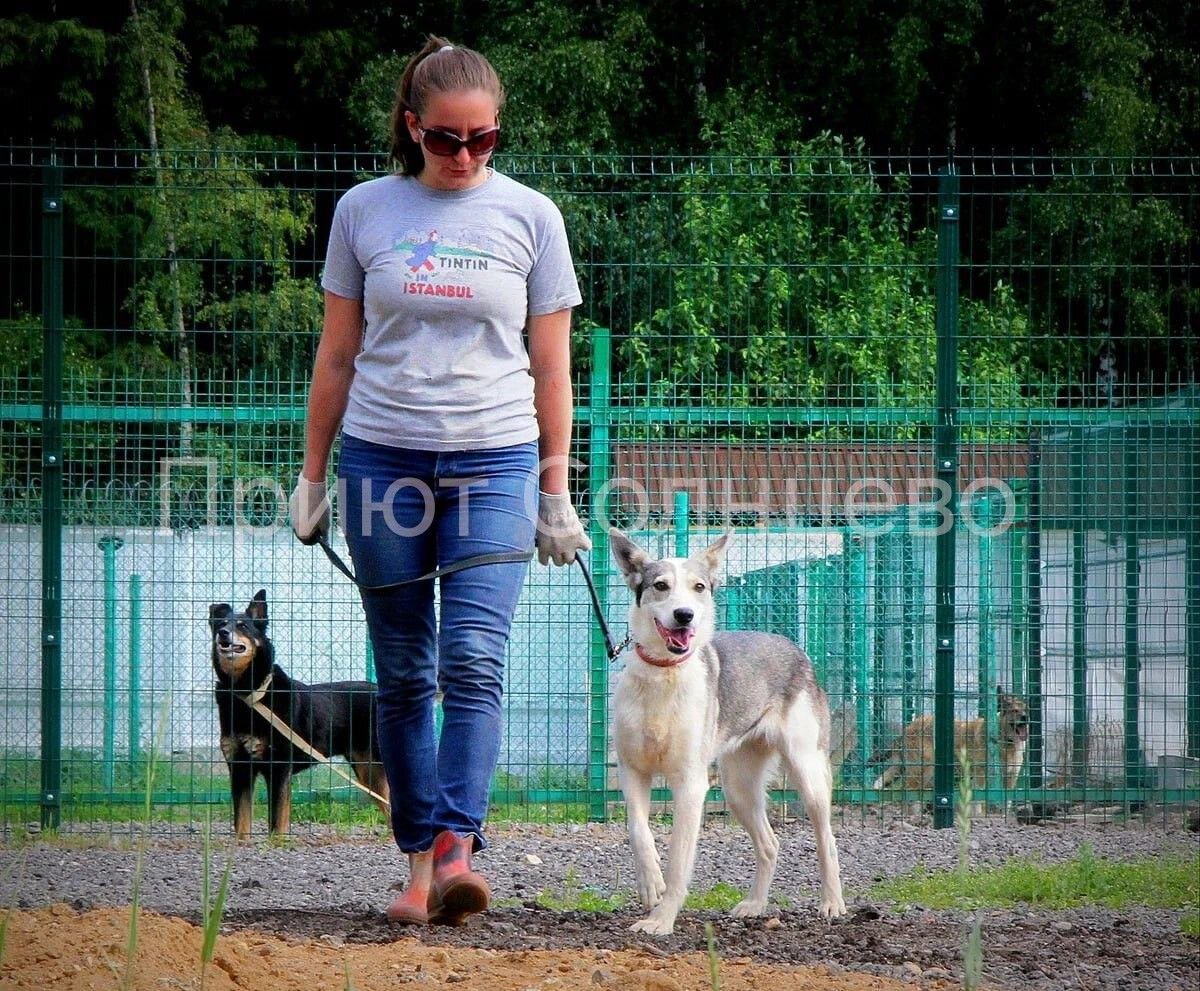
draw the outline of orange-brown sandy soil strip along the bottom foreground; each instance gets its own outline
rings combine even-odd
[[[125,971],[128,909],[76,912],[66,905],[14,912],[0,987],[109,991]],[[137,991],[199,989],[202,932],[182,919],[142,913],[134,957]],[[719,960],[724,991],[912,991],[869,974],[823,967],[779,967],[745,957]],[[340,937],[293,941],[253,931],[217,939],[212,991],[383,991],[398,984],[461,985],[486,991],[700,991],[713,986],[707,955],[644,950],[494,950],[426,945],[406,937],[348,943]],[[955,986],[949,981],[924,987]]]

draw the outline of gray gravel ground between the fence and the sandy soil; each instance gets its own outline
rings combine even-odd
[[[694,950],[706,944],[713,921],[722,955],[773,963],[826,963],[914,983],[958,980],[968,919],[960,912],[919,907],[895,912],[872,903],[866,891],[887,876],[918,864],[953,867],[958,836],[902,819],[840,823],[835,827],[842,881],[851,915],[832,925],[815,913],[816,863],[804,822],[776,823],[782,841],[773,894],[787,907],[769,920],[734,920],[714,912],[685,911],[674,936],[655,939],[629,932],[638,917],[551,912],[535,902],[544,891],[563,895],[586,887],[622,893],[634,901],[632,870],[624,829],[606,825],[517,825],[496,829],[476,865],[492,884],[497,906],[462,930],[409,931],[426,943],[494,949],[571,947],[650,948],[653,953]],[[660,843],[665,840],[660,831]],[[1014,855],[1046,861],[1075,854],[1084,842],[1098,857],[1127,859],[1160,853],[1196,853],[1200,837],[1182,824],[1018,825],[984,819],[974,824],[974,864]],[[220,854],[218,854],[220,859]],[[0,849],[0,877],[16,891],[6,903],[32,907],[64,901],[77,908],[127,905],[134,870],[128,849],[84,846],[71,840]],[[692,890],[718,882],[749,883],[752,857],[739,829],[721,822],[701,834]],[[199,902],[199,843],[178,835],[155,839],[146,859],[143,905],[194,919]],[[389,887],[404,876],[402,858],[382,836],[346,840],[301,833],[287,846],[264,842],[236,851],[227,906],[227,929],[250,927],[277,935],[341,942],[384,942],[397,930],[382,911]],[[985,975],[995,987],[1022,989],[1196,989],[1200,943],[1180,932],[1180,912],[1081,908],[983,913]]]

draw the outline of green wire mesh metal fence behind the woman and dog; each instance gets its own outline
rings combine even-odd
[[[948,824],[973,720],[996,815],[1200,795],[1200,160],[497,164],[575,248],[576,496],[614,629],[606,523],[664,553],[733,525],[722,621],[812,655],[841,815]],[[228,817],[210,602],[265,588],[295,677],[373,673],[349,584],[283,517],[329,220],[383,161],[2,170],[5,825],[127,824],[160,729],[157,815]],[[617,667],[580,575],[534,566],[493,815],[612,815]],[[1013,787],[997,685],[1028,709]],[[917,783],[875,788],[923,715]],[[329,774],[295,787],[296,822],[380,823]]]

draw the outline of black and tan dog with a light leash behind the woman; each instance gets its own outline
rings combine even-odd
[[[388,779],[376,732],[376,686],[370,681],[305,685],[275,663],[266,636],[266,591],[259,589],[245,612],[227,602],[209,607],[212,669],[221,752],[229,764],[234,834],[250,837],[254,779],[266,779],[271,833],[292,821],[292,775],[317,763],[260,713],[260,702],[293,734],[325,757],[344,757],[358,780],[388,799]],[[251,704],[247,704],[250,702]],[[386,803],[376,803],[389,815]]]

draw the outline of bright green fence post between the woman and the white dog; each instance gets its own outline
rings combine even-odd
[[[612,563],[608,553],[608,510],[604,498],[612,475],[608,398],[612,388],[612,335],[596,328],[592,335],[592,380],[588,394],[588,535],[592,539],[592,578],[601,612],[608,615]],[[608,645],[599,623],[590,624],[588,669],[588,818],[608,817]]]

